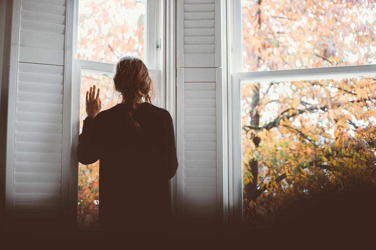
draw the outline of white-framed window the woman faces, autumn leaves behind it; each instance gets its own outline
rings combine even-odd
[[[157,95],[161,90],[160,48],[154,41],[159,36],[160,20],[157,1],[112,0],[76,3],[75,36],[77,44],[74,58],[73,83],[73,140],[78,143],[86,117],[85,94],[94,84],[100,88],[102,110],[113,107],[121,101],[114,91],[112,71],[114,63],[124,55],[142,59],[152,75]],[[151,69],[152,68],[152,69]],[[153,104],[158,105],[158,102]],[[72,181],[77,183],[77,226],[81,229],[99,228],[99,168],[100,161],[78,166]],[[76,186],[76,187],[77,187]],[[74,194],[73,194],[74,195]]]

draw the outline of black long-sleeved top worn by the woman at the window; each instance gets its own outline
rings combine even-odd
[[[172,224],[168,180],[177,169],[170,113],[147,102],[136,104],[127,119],[124,104],[86,117],[77,159],[99,167],[99,218],[102,229],[153,230]]]

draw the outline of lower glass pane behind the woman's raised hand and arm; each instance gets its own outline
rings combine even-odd
[[[100,89],[102,110],[116,105],[118,93],[114,93],[114,82],[104,75],[82,74],[80,99],[80,133],[86,117],[86,91],[96,85]],[[99,161],[89,165],[79,163],[78,175],[78,226],[85,229],[99,228]]]

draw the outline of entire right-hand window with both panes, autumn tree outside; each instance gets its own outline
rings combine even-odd
[[[376,4],[230,6],[234,225],[264,226],[302,199],[374,186]]]

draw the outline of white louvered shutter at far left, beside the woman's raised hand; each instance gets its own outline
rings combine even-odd
[[[14,1],[6,166],[12,226],[59,226],[56,221],[62,218],[63,134],[70,130],[63,131],[64,92],[70,95],[71,74],[65,68],[71,59],[67,3],[73,10],[70,0]]]

